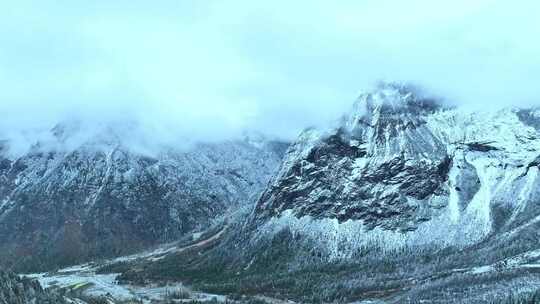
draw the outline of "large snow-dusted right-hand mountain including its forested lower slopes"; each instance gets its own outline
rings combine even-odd
[[[385,84],[337,127],[301,134],[219,245],[122,278],[302,303],[529,303],[539,156],[538,110],[470,111]]]

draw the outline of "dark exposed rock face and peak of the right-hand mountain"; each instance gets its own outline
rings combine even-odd
[[[402,231],[425,219],[419,210],[447,191],[452,166],[423,119],[439,107],[410,92],[385,95],[392,92],[364,96],[365,115],[353,114],[330,134],[310,138],[308,131],[259,199],[257,218],[291,210],[297,217],[362,220],[368,228]]]

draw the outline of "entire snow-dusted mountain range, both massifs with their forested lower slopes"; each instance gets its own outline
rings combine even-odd
[[[82,268],[261,303],[540,301],[539,110],[468,111],[389,83],[337,126],[257,142],[5,159],[2,261],[46,269],[33,259],[200,232]]]

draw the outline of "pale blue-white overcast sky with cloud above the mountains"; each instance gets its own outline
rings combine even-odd
[[[0,132],[69,118],[166,139],[293,138],[381,79],[473,107],[531,105],[539,12],[536,0],[0,0]]]

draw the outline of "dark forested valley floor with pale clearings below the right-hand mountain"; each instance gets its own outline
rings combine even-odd
[[[274,267],[287,265],[279,260],[285,249],[270,257],[274,264],[241,275],[201,266],[212,259],[209,253],[224,251],[220,246],[235,228],[221,224],[139,254],[25,276],[66,292],[75,304],[540,303],[537,241],[508,243],[505,237],[465,251],[371,255],[290,271]],[[488,257],[493,251],[499,253]],[[199,266],[186,266],[193,263]]]

